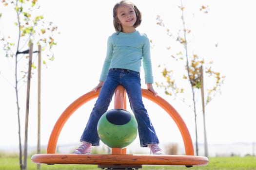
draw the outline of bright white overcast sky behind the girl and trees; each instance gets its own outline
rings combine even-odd
[[[152,62],[155,81],[161,80],[159,64],[169,63],[170,38],[165,30],[158,26],[156,17],[160,15],[165,25],[176,35],[181,29],[179,0],[134,0],[142,12],[142,24],[138,30],[146,33],[153,40]],[[47,145],[51,130],[59,115],[84,93],[98,84],[106,52],[107,37],[114,32],[112,9],[116,0],[82,1],[43,0],[41,11],[46,20],[53,21],[61,33],[55,39],[55,60],[48,62],[48,68],[42,70],[41,85],[41,144]],[[213,60],[213,68],[226,76],[222,85],[222,94],[217,95],[206,107],[206,127],[208,143],[234,143],[256,141],[255,108],[255,39],[256,15],[250,0],[184,0],[188,14],[185,16],[187,27],[192,30],[191,42],[198,55],[206,61]],[[198,12],[201,5],[210,7],[209,14]],[[2,6],[0,6],[2,10]],[[193,17],[193,13],[194,16]],[[8,16],[7,16],[8,15]],[[0,19],[0,33],[12,33],[10,19],[13,14],[3,11]],[[7,21],[8,19],[8,21]],[[15,18],[13,18],[15,20]],[[14,27],[14,26],[13,26]],[[7,32],[10,31],[10,32]],[[215,44],[218,43],[218,48]],[[34,47],[36,49],[37,47]],[[171,49],[173,53],[177,49]],[[43,55],[43,54],[42,54]],[[34,55],[36,56],[36,55]],[[37,58],[36,58],[37,59]],[[36,60],[35,59],[35,60]],[[24,65],[23,65],[24,66]],[[21,67],[23,67],[21,66]],[[177,67],[176,67],[177,68]],[[177,68],[176,73],[182,71]],[[143,73],[143,71],[142,71]],[[14,60],[6,59],[0,51],[0,150],[6,147],[18,147],[18,120],[15,101]],[[144,79],[142,74],[142,87]],[[207,82],[206,82],[207,84]],[[207,88],[207,87],[205,87]],[[195,141],[194,114],[179,100],[172,100],[158,89],[158,94],[170,102],[180,113]],[[22,142],[25,118],[26,85],[20,88],[20,118]],[[31,102],[29,116],[29,145],[37,144],[37,73],[31,84]],[[198,99],[199,100],[199,99]],[[66,123],[59,144],[78,144],[79,137],[89,117],[95,101],[82,106]],[[145,100],[152,122],[161,143],[181,143],[176,125],[172,119],[156,104]],[[202,114],[198,112],[198,142],[203,142]],[[5,137],[4,137],[5,136]],[[7,137],[8,136],[8,137]],[[139,144],[138,144],[139,145]]]

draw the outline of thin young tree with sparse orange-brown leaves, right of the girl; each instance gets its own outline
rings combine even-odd
[[[209,62],[209,63],[205,63],[205,60],[203,57],[198,56],[197,54],[195,54],[193,51],[189,51],[188,50],[188,46],[190,43],[188,41],[188,34],[191,34],[192,31],[189,30],[188,28],[186,28],[186,20],[185,20],[185,16],[184,16],[184,10],[185,7],[182,4],[182,0],[180,0],[180,6],[179,6],[180,10],[181,10],[181,20],[182,20],[182,29],[180,29],[178,35],[176,37],[174,37],[173,34],[170,33],[170,29],[167,28],[166,32],[167,35],[169,37],[175,38],[176,41],[181,44],[183,46],[183,50],[177,52],[176,54],[172,55],[172,59],[174,59],[174,61],[176,62],[184,62],[184,68],[186,70],[186,74],[180,74],[180,78],[184,79],[184,80],[188,80],[190,88],[191,88],[191,94],[192,94],[192,108],[193,108],[193,112],[194,112],[194,116],[195,116],[195,131],[196,131],[196,153],[198,155],[198,141],[197,141],[197,91],[200,90],[203,86],[203,79],[202,79],[202,68],[204,67],[204,73],[206,75],[208,75],[208,79],[213,79],[214,83],[212,85],[212,87],[208,87],[207,88],[207,97],[206,100],[203,100],[203,102],[205,102],[205,104],[207,104],[208,102],[210,102],[213,97],[220,92],[220,87],[224,81],[225,76],[220,76],[219,72],[213,71],[211,69],[211,65],[213,64],[213,62]],[[199,8],[200,11],[202,11],[203,13],[207,14],[209,7],[202,5]],[[165,24],[163,23],[163,20],[161,19],[160,16],[157,17],[158,20],[158,25],[165,27]],[[170,49],[170,48],[168,48]],[[189,92],[187,90],[184,89],[184,87],[181,87],[181,85],[177,85],[177,81],[174,78],[174,74],[175,71],[172,69],[168,69],[166,67],[166,65],[161,66],[159,65],[159,67],[162,68],[162,76],[165,78],[165,82],[157,82],[157,85],[159,87],[164,88],[165,94],[166,95],[170,95],[170,96],[174,96],[175,98],[177,97],[178,94],[183,94],[185,92]],[[201,70],[201,71],[200,71]],[[203,91],[201,91],[201,93],[203,93]],[[203,97],[203,94],[201,95],[201,97]],[[186,102],[186,99],[182,99],[183,102]],[[204,104],[203,104],[204,107]],[[204,110],[204,108],[203,108]],[[203,113],[204,114],[204,113]],[[203,115],[204,116],[204,115]],[[207,144],[207,140],[206,140],[206,126],[205,126],[205,121],[204,123],[204,132],[205,132],[205,143]],[[205,150],[207,150],[207,145],[205,147]],[[208,151],[205,152],[206,154],[208,153]],[[208,155],[206,155],[208,156]]]

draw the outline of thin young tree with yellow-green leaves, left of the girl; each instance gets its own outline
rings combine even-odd
[[[18,115],[18,134],[19,134],[19,158],[20,158],[20,170],[27,169],[26,158],[23,157],[24,162],[22,162],[22,142],[21,142],[21,128],[20,128],[20,98],[23,96],[19,96],[20,86],[23,85],[26,80],[24,78],[30,76],[28,73],[28,69],[22,69],[19,66],[19,63],[22,61],[24,63],[28,63],[28,53],[29,52],[38,52],[38,51],[30,51],[30,45],[32,43],[40,45],[42,47],[42,51],[45,59],[50,61],[54,60],[54,55],[52,47],[56,45],[54,40],[54,34],[57,33],[57,27],[52,22],[47,22],[44,20],[42,15],[36,15],[35,12],[39,11],[39,4],[37,0],[1,0],[0,2],[5,8],[8,8],[10,12],[16,13],[16,22],[14,25],[10,25],[9,27],[16,27],[18,36],[13,37],[15,35],[13,33],[8,32],[6,34],[0,34],[0,41],[3,50],[5,51],[5,56],[8,58],[15,59],[15,94],[16,94],[16,105],[17,105],[17,115]],[[0,13],[0,17],[9,17],[8,14]],[[46,64],[46,60],[43,60],[43,64]],[[36,64],[31,63],[31,67],[36,69]],[[21,74],[20,74],[21,73]],[[22,81],[23,80],[23,81]],[[27,129],[25,129],[25,134],[27,133]],[[27,148],[24,148],[24,153],[26,153]],[[26,154],[24,154],[26,157]]]

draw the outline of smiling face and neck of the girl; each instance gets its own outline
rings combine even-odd
[[[134,24],[137,20],[134,8],[131,5],[120,5],[117,9],[117,17],[122,25],[124,33],[135,31]]]

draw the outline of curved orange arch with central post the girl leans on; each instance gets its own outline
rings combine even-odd
[[[184,142],[184,147],[185,147],[185,154],[186,155],[194,155],[194,147],[192,143],[192,139],[190,136],[190,133],[188,131],[188,128],[183,121],[183,119],[180,117],[178,112],[172,107],[171,104],[166,102],[164,99],[161,97],[157,96],[155,97],[152,92],[146,89],[141,89],[142,90],[142,97],[147,98],[151,100],[152,102],[157,103],[160,107],[162,107],[175,121],[177,124],[177,127],[181,133],[181,136],[183,138]],[[59,134],[66,123],[66,121],[70,118],[70,116],[84,103],[98,97],[99,90],[95,92],[94,90],[82,95],[79,97],[76,101],[71,103],[65,110],[64,112],[60,115],[59,119],[57,120],[52,133],[50,135],[49,141],[48,141],[48,146],[47,146],[47,153],[55,153],[56,152],[56,146],[57,146],[57,141],[59,138]],[[123,86],[119,85],[116,89],[115,93],[115,108],[126,108],[126,101],[125,101],[125,90]],[[119,152],[117,150],[114,150],[115,152]],[[125,151],[123,151],[125,153]],[[112,150],[113,153],[113,150]]]

